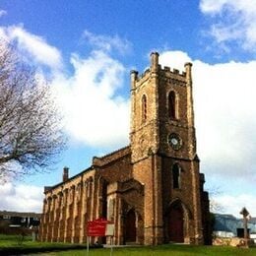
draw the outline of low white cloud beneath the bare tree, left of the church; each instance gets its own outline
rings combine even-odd
[[[0,185],[0,209],[7,211],[41,213],[43,189],[32,185]]]

